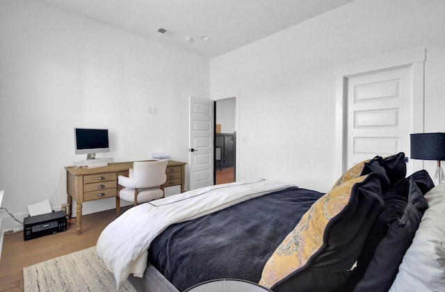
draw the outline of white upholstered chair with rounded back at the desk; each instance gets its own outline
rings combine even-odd
[[[137,161],[133,163],[133,168],[129,169],[129,177],[120,175],[118,177],[118,197],[119,200],[134,202],[134,205],[160,199],[164,196],[161,186],[165,184],[167,176],[165,170],[168,160],[162,161]]]

